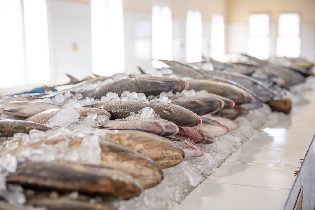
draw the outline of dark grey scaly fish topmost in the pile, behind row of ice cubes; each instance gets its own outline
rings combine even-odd
[[[101,85],[93,90],[86,90],[81,92],[83,97],[92,97],[100,99],[108,92],[113,92],[121,95],[124,91],[144,93],[149,95],[159,95],[162,92],[173,91],[182,92],[186,90],[188,83],[184,80],[170,78],[170,77],[133,77],[120,79],[114,82]]]

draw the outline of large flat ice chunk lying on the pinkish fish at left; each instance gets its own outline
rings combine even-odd
[[[56,113],[52,118],[47,122],[47,125],[52,128],[59,126],[61,128],[67,128],[70,123],[78,121],[80,115],[73,108],[66,108],[58,113]]]

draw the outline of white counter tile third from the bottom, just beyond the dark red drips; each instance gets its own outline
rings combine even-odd
[[[306,151],[241,147],[226,162],[301,167]]]

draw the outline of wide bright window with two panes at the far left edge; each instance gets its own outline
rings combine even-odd
[[[46,1],[24,0],[23,5],[0,1],[1,88],[49,81]]]

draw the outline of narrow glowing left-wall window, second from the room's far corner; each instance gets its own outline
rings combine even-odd
[[[202,60],[202,16],[199,11],[187,12],[186,25],[186,61],[187,63]]]

